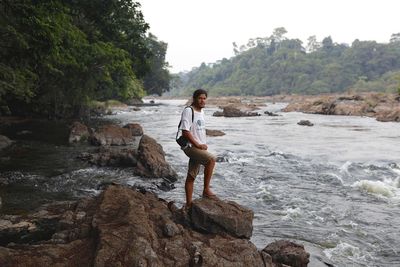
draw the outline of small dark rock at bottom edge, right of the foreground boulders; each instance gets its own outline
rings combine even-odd
[[[292,267],[306,267],[310,261],[310,254],[305,251],[304,246],[287,240],[272,242],[262,250],[262,253],[270,255],[274,263]]]

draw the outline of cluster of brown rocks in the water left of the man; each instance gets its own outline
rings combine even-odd
[[[162,146],[144,135],[140,124],[129,123],[122,128],[105,125],[89,139],[99,148],[81,153],[78,156],[81,160],[102,167],[133,167],[133,173],[142,177],[177,180],[178,175],[165,160]]]

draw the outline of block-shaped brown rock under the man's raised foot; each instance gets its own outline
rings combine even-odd
[[[219,199],[197,199],[193,201],[191,210],[191,221],[196,229],[247,239],[253,232],[253,217],[252,210]]]

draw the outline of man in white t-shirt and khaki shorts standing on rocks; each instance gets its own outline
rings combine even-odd
[[[188,173],[185,182],[186,208],[192,205],[193,186],[200,165],[204,166],[204,188],[203,197],[216,198],[210,189],[210,181],[215,167],[216,157],[207,151],[206,126],[204,111],[207,99],[207,91],[198,89],[193,93],[193,102],[186,107],[181,116],[179,130],[182,136],[189,140],[188,144],[182,147],[183,152],[189,157]]]

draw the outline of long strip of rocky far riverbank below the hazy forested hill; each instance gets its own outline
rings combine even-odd
[[[188,98],[186,104],[189,105],[190,101],[190,98]],[[268,103],[275,102],[288,103],[288,106],[283,109],[284,112],[296,111],[322,115],[366,116],[374,117],[383,122],[400,122],[400,96],[389,93],[275,95],[265,97],[210,96],[207,99],[207,106],[221,109],[234,107],[243,112],[251,112],[265,107]]]

